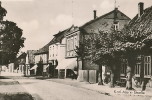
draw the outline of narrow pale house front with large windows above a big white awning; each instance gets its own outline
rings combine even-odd
[[[64,47],[62,48],[62,60],[59,61],[58,66],[58,75],[59,78],[71,78],[73,70],[77,66],[77,57],[75,53],[76,46],[78,46],[79,33],[75,33],[74,35],[70,35],[71,32],[78,31],[78,27],[72,25],[64,32]],[[60,58],[60,57],[58,57]]]

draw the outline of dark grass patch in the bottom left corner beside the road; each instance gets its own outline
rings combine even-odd
[[[34,100],[28,93],[0,93],[0,100]]]

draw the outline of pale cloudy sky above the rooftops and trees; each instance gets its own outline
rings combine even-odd
[[[115,0],[0,0],[7,10],[5,20],[17,23],[23,29],[25,47],[21,51],[37,50],[46,45],[54,34],[81,26],[93,19],[93,10],[102,16],[115,7]],[[138,3],[144,8],[152,0],[116,0],[116,7],[131,19],[138,13]]]

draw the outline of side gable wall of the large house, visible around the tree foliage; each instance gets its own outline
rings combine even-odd
[[[119,15],[119,13],[118,13]],[[130,19],[127,19],[126,17],[121,17],[121,19],[117,19],[118,21],[118,30],[123,29],[123,27],[128,24]],[[98,19],[97,21],[85,26],[83,29],[85,30],[86,33],[99,33],[100,31],[104,32],[111,32],[112,27],[114,27],[114,19],[111,15],[107,15],[104,18]],[[81,34],[84,34],[81,32]],[[85,70],[98,70],[98,66],[90,63],[91,61],[84,61],[84,68]]]

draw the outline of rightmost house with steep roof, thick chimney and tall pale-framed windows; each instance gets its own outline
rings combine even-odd
[[[129,30],[135,30],[136,32],[141,32],[147,38],[143,40],[146,45],[151,46],[152,40],[152,6],[144,10],[144,3],[140,2],[138,4],[138,14],[129,22]],[[127,63],[125,62],[121,69],[121,76],[126,75]],[[148,80],[148,85],[152,87],[152,52],[151,47],[147,49],[143,54],[139,54],[136,59],[135,72],[138,83],[140,83],[140,78]],[[143,76],[142,76],[143,75]]]

